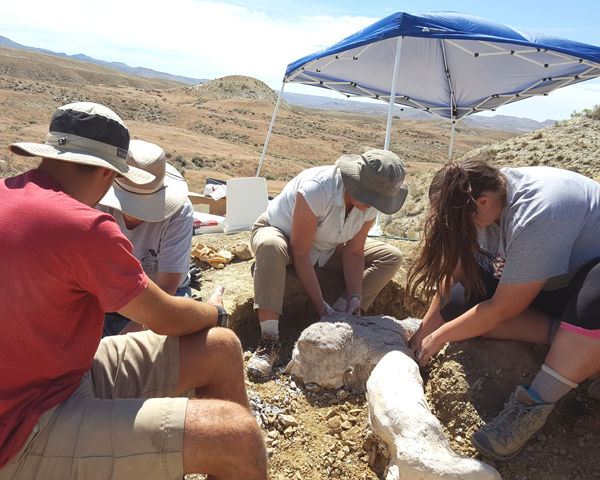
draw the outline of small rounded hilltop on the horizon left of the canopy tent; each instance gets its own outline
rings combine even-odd
[[[275,104],[277,94],[264,82],[243,75],[230,75],[194,87],[200,97],[224,100],[229,98],[256,100]]]

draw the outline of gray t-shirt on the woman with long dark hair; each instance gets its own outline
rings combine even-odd
[[[479,259],[501,283],[548,280],[566,285],[585,263],[600,257],[600,184],[551,167],[503,168],[506,206],[500,225],[478,230],[493,260]]]

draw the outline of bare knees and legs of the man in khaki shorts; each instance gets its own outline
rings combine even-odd
[[[207,303],[222,305],[218,287]],[[183,470],[209,480],[264,480],[263,434],[250,411],[242,347],[227,328],[210,328],[179,339],[179,389],[195,389],[183,436]]]

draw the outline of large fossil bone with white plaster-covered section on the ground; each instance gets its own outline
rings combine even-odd
[[[324,388],[367,390],[371,429],[391,454],[386,480],[500,480],[489,465],[453,452],[429,410],[406,340],[418,326],[383,315],[329,315],[302,332],[286,371]]]

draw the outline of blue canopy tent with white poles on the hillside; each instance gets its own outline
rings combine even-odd
[[[260,174],[286,83],[327,88],[458,120],[600,77],[600,47],[524,32],[479,17],[395,13],[288,65],[258,165]]]

